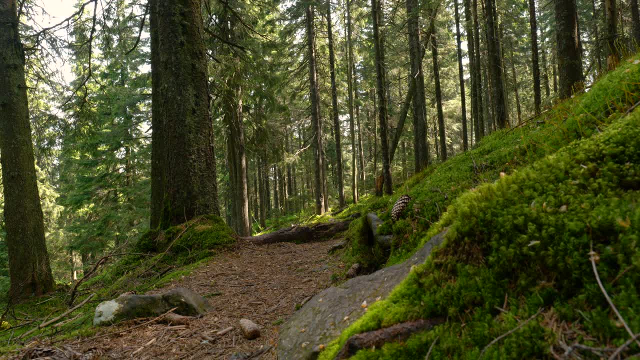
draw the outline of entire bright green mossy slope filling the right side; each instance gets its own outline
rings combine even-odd
[[[628,334],[598,288],[592,246],[606,290],[632,331],[640,331],[640,110],[623,115],[640,99],[639,63],[626,62],[587,94],[549,111],[546,124],[495,133],[414,177],[406,188],[421,206],[389,230],[404,233],[390,262],[448,228],[445,244],[321,359],[333,359],[353,334],[435,316],[447,316],[447,323],[353,358],[424,359],[437,338],[431,359],[477,359],[539,309],[483,359],[553,358],[552,351],[562,354],[573,343],[621,345]],[[639,350],[633,345],[625,354]]]

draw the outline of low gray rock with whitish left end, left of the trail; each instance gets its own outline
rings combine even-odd
[[[202,315],[211,309],[204,297],[186,288],[175,288],[156,295],[123,294],[101,302],[95,308],[93,325],[111,325],[121,320],[160,316],[173,309],[184,316]]]

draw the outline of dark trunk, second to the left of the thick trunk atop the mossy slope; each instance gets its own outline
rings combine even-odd
[[[493,116],[499,129],[508,127],[506,101],[504,98],[504,83],[502,80],[500,38],[497,33],[497,13],[495,0],[487,0],[485,17],[487,27],[487,46],[489,68],[491,74],[491,97],[493,102]]]

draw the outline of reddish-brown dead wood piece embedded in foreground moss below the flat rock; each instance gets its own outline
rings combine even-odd
[[[348,359],[354,356],[358,350],[365,348],[380,348],[385,343],[392,341],[404,341],[407,340],[412,334],[416,332],[425,331],[433,328],[436,325],[444,323],[444,318],[435,318],[429,320],[415,320],[410,322],[397,323],[390,327],[383,329],[363,332],[362,334],[355,334],[344,343],[344,346],[340,349],[340,352],[335,356],[335,360]]]

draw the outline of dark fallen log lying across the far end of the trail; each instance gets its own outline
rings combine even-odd
[[[349,219],[345,221],[323,222],[311,226],[293,225],[274,231],[273,233],[258,236],[244,236],[240,239],[257,245],[284,242],[309,243],[328,240],[335,234],[342,233],[342,231],[349,229],[351,221],[352,220]]]

